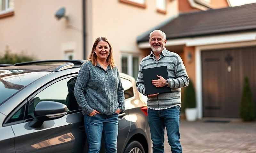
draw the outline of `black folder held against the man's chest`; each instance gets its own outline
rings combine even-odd
[[[166,80],[168,79],[167,66],[159,66],[154,68],[142,69],[142,74],[143,74],[146,95],[171,92],[170,87],[166,87],[166,86],[156,87],[152,84],[152,80],[159,79],[157,75],[163,77]]]

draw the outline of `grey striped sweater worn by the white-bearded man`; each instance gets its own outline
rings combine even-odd
[[[176,53],[170,52],[164,48],[158,61],[154,58],[153,51],[144,57],[140,62],[139,75],[136,81],[136,87],[140,93],[145,94],[142,69],[153,68],[158,66],[167,66],[169,93],[160,93],[158,96],[148,97],[148,106],[151,108],[168,107],[175,104],[181,104],[181,87],[188,86],[189,78],[185,66]],[[146,95],[147,96],[147,95]]]

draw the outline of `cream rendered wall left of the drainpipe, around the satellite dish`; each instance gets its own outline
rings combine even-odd
[[[56,20],[56,11],[66,7],[70,21]],[[64,50],[74,49],[82,57],[81,0],[15,0],[14,16],[0,18],[0,54],[5,47],[22,50],[37,59],[63,59]],[[67,27],[72,25],[72,27]]]

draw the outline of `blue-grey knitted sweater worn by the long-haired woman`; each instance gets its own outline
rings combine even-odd
[[[102,114],[111,115],[117,109],[124,111],[124,88],[118,69],[103,69],[91,61],[84,62],[79,70],[74,95],[83,114],[92,113],[93,109]]]

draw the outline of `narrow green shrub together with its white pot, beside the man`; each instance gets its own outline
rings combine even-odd
[[[196,93],[193,82],[190,80],[184,91],[185,114],[188,121],[195,121],[197,117]]]

